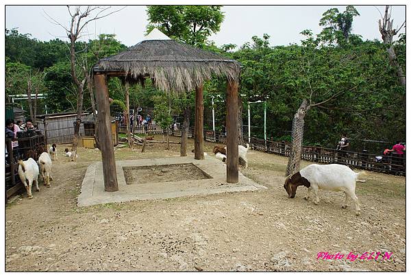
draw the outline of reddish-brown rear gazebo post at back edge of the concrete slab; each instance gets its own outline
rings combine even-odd
[[[204,125],[204,100],[203,84],[195,88],[195,124],[194,124],[194,158],[204,159],[203,151],[203,125]]]

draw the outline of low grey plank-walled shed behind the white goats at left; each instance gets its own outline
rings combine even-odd
[[[82,119],[88,115],[82,114]],[[36,123],[38,130],[46,137],[47,144],[51,143],[71,143],[74,136],[74,123],[77,112],[59,112],[48,115],[38,115]],[[79,136],[84,135],[84,127],[80,126]]]

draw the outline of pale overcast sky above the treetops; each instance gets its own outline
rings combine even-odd
[[[354,18],[352,32],[360,34],[364,39],[381,40],[378,30],[378,19],[381,15],[377,8],[384,13],[384,6],[355,7],[360,16]],[[116,8],[121,7],[114,6],[112,9]],[[340,12],[345,10],[345,6],[338,5],[226,5],[223,7],[225,19],[221,30],[218,34],[213,34],[210,40],[214,40],[219,46],[228,43],[240,46],[251,41],[252,36],[269,34],[271,46],[299,43],[303,39],[299,32],[303,29],[312,29],[314,34],[321,31],[319,20],[329,8],[338,8]],[[99,34],[116,34],[121,43],[127,46],[135,45],[144,37],[147,25],[146,9],[146,6],[130,5],[120,12],[94,21],[86,29],[88,38],[97,38]],[[5,27],[18,27],[19,32],[32,34],[33,38],[39,40],[51,40],[55,37],[66,40],[64,29],[50,23],[46,13],[69,26],[69,14],[65,6],[8,5],[5,8]],[[401,25],[406,19],[405,5],[394,6],[391,18],[394,19],[395,27]]]

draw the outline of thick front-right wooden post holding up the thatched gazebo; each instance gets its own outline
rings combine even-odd
[[[238,182],[238,84],[227,82],[227,182]]]

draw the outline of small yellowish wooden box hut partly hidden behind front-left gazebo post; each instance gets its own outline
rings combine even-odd
[[[92,115],[88,115],[82,123],[84,125],[84,136],[79,140],[79,147],[95,148],[95,123]],[[116,146],[119,144],[119,121],[115,117],[111,119],[111,133],[113,146]]]

